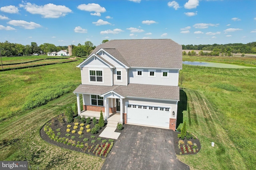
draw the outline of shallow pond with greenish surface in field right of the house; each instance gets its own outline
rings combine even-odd
[[[206,66],[206,67],[218,67],[218,68],[255,68],[248,66],[239,66],[234,64],[223,64],[223,63],[211,63],[211,62],[199,62],[199,61],[183,61],[183,64],[193,65],[193,66]]]

